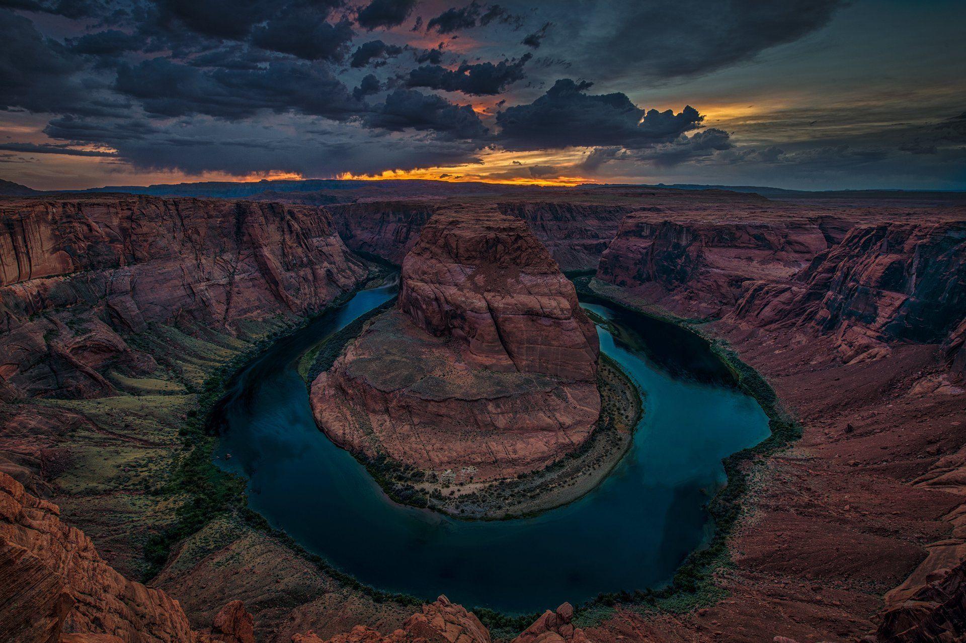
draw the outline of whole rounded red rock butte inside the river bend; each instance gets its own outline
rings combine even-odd
[[[600,412],[597,334],[520,219],[440,212],[403,263],[399,305],[312,384],[338,444],[476,480],[546,466]]]

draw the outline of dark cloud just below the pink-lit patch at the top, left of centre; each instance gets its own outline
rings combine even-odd
[[[355,37],[352,24],[341,20],[331,24],[327,12],[300,8],[272,18],[252,32],[252,42],[263,49],[292,54],[303,60],[338,62]]]

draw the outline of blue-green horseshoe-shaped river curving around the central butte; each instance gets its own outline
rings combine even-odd
[[[603,301],[601,350],[644,395],[634,444],[597,489],[537,517],[462,521],[390,501],[312,419],[298,357],[394,296],[355,294],[273,344],[233,378],[218,466],[248,479],[249,506],[340,570],[386,591],[504,612],[658,587],[713,533],[705,510],[722,459],[768,436],[768,419],[707,345],[674,324]],[[231,454],[225,459],[225,454]]]

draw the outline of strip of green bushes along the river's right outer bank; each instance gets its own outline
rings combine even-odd
[[[578,294],[598,297],[614,308],[674,323],[695,333],[707,342],[709,349],[725,364],[734,377],[734,384],[761,406],[771,430],[771,434],[755,446],[725,458],[723,464],[727,483],[708,504],[708,512],[715,522],[714,536],[705,547],[688,555],[666,587],[602,593],[578,607],[575,624],[578,627],[592,627],[606,619],[617,605],[641,611],[683,612],[719,601],[725,597],[725,590],[717,585],[714,576],[731,565],[729,541],[738,521],[747,511],[745,505],[753,478],[766,466],[771,456],[788,448],[802,436],[802,427],[781,406],[778,394],[765,377],[742,361],[724,340],[696,327],[703,321],[688,321],[664,310],[637,306],[627,298],[620,297],[619,289],[598,287],[598,283],[591,278],[577,279],[575,285]]]

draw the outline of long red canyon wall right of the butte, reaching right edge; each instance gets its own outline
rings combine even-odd
[[[599,281],[685,317],[810,329],[833,337],[845,361],[880,356],[890,342],[945,344],[962,371],[966,223],[957,212],[913,222],[654,210],[625,217]]]

